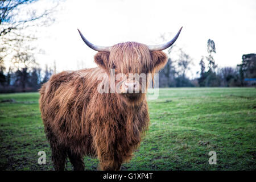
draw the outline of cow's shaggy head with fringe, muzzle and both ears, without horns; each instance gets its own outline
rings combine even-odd
[[[164,67],[167,56],[162,51],[150,52],[144,44],[126,42],[114,45],[110,52],[98,52],[94,61],[108,73],[115,93],[127,103],[135,103],[142,100],[148,81]]]

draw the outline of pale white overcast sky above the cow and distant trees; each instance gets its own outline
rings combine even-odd
[[[255,0],[67,0],[59,9],[55,24],[39,29],[37,44],[45,54],[36,56],[42,67],[56,61],[58,72],[96,66],[96,51],[82,42],[77,28],[90,42],[112,46],[126,41],[160,44],[160,35],[172,39],[183,26],[175,44],[192,57],[193,76],[201,56],[207,55],[208,39],[216,44],[219,67],[235,67],[243,54],[256,53]]]

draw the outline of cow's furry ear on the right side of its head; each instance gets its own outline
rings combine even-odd
[[[167,63],[167,55],[162,51],[152,51],[151,59],[153,61],[153,68],[151,69],[152,73],[158,72],[160,69],[164,67]]]

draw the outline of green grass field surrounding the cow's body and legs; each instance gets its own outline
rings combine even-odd
[[[53,170],[38,98],[0,94],[1,170]],[[160,89],[148,106],[150,130],[122,170],[256,169],[255,88]],[[38,164],[39,151],[46,165]],[[208,163],[209,151],[216,151],[216,165]],[[84,162],[86,170],[97,169],[97,159]]]

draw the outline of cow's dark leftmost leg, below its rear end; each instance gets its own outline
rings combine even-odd
[[[52,146],[52,162],[56,171],[64,171],[67,153],[61,146]]]

